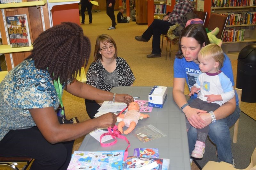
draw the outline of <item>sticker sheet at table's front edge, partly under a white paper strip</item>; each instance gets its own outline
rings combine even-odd
[[[143,157],[131,156],[125,160],[123,169],[162,170],[163,160],[164,159],[162,158],[143,158]]]

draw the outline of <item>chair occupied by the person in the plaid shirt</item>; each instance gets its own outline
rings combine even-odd
[[[204,11],[193,11],[197,17],[199,19],[202,19],[205,23],[205,20],[206,20],[206,16],[207,16],[207,12],[204,12]],[[180,41],[180,36],[177,36],[175,37],[174,39],[172,40],[169,40],[167,35],[165,34],[162,34],[162,47],[161,47],[161,52],[163,52],[163,42],[164,42],[164,37],[167,38],[167,42],[166,42],[166,51],[165,51],[165,59],[167,59],[167,54],[168,54],[168,51],[167,51],[167,48],[168,48],[168,41],[170,41],[170,48],[169,48],[169,59],[171,59],[171,50],[172,50],[172,44],[179,44],[179,41]]]

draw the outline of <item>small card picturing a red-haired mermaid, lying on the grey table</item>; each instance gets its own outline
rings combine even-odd
[[[135,148],[133,156],[145,158],[159,158],[157,148]]]

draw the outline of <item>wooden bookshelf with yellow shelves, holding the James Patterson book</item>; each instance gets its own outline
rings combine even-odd
[[[26,1],[26,0],[23,0]],[[0,33],[2,35],[3,45],[0,45],[0,53],[5,54],[7,70],[11,70],[25,58],[30,55],[30,50],[33,48],[11,48],[6,29],[6,16],[26,14],[28,17],[28,25],[30,30],[31,42],[33,42],[40,33],[50,28],[52,23],[52,8],[58,5],[76,4],[78,10],[79,0],[27,0],[22,3],[0,4]],[[79,14],[78,14],[79,16]]]

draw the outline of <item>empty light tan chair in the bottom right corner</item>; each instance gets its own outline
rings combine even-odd
[[[223,162],[223,161],[221,161],[221,162],[208,161],[202,170],[215,170],[215,169],[238,170],[238,169],[234,168],[232,164],[229,164],[229,163]],[[255,169],[256,169],[256,148],[252,152],[251,163],[249,164],[249,166],[247,166],[247,168],[245,168],[243,170],[255,170]]]

